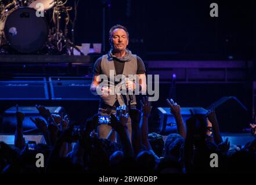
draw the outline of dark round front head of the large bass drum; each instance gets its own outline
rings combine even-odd
[[[5,21],[5,38],[10,46],[21,53],[33,53],[44,46],[48,25],[44,17],[37,17],[32,8],[14,10]]]

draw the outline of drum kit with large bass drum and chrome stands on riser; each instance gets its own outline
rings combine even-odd
[[[73,9],[65,6],[67,1],[0,0],[0,53],[71,54],[74,48],[80,51],[74,40],[67,38],[71,21],[68,12]],[[43,16],[38,16],[39,10]]]

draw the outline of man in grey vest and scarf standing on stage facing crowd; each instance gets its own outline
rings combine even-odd
[[[132,54],[127,49],[129,43],[129,33],[127,28],[122,25],[114,25],[109,31],[109,41],[111,49],[108,54],[96,60],[93,66],[93,80],[91,84],[91,92],[100,96],[99,113],[102,115],[115,114],[118,106],[127,105],[128,101],[131,102],[131,106],[136,106],[135,93],[131,95],[131,92],[140,92],[145,94],[147,90],[146,85],[146,69],[143,61],[140,57]],[[103,80],[102,75],[107,77],[107,80]],[[120,79],[118,82],[114,82],[111,86],[111,79],[114,75],[125,76],[125,80]],[[129,76],[136,76],[137,80],[132,79]],[[100,81],[101,80],[101,81]],[[110,86],[100,86],[100,83],[107,83]],[[125,87],[127,94],[118,94],[116,87],[118,84],[121,87]],[[114,92],[113,92],[114,91]],[[100,93],[99,93],[100,92]],[[123,92],[123,91],[122,91]],[[129,94],[128,94],[129,92]],[[128,118],[128,130],[131,138],[131,119]],[[98,135],[100,138],[107,138],[111,127],[106,124],[99,125]]]

